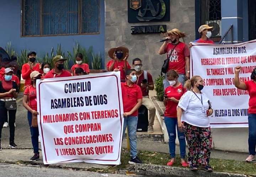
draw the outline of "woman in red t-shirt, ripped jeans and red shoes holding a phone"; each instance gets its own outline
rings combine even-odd
[[[170,86],[165,89],[164,104],[165,104],[165,125],[169,135],[169,152],[171,160],[167,163],[168,166],[172,166],[175,162],[175,140],[177,129],[177,106],[181,96],[186,92],[180,81],[178,81],[178,73],[175,70],[169,70],[166,73],[167,80]],[[181,165],[187,167],[188,164],[185,161],[186,155],[186,140],[183,132],[178,132],[178,140],[180,142],[180,155]]]

